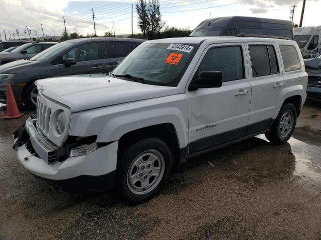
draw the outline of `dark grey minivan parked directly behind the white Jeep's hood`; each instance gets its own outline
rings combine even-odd
[[[78,38],[60,42],[30,59],[0,66],[0,103],[11,84],[17,103],[36,107],[35,80],[53,76],[106,73],[145,40],[115,37]]]

